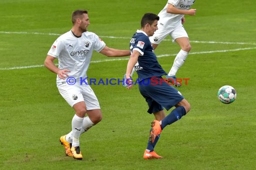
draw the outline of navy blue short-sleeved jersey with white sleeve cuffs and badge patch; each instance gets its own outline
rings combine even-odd
[[[140,53],[138,64],[135,64],[135,70],[139,80],[167,75],[161,65],[158,63],[154,49],[150,43],[149,37],[144,31],[137,30],[130,41],[131,52],[136,50]]]

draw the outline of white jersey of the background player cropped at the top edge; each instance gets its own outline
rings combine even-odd
[[[158,24],[162,25],[164,28],[174,28],[181,24],[181,18],[184,14],[172,14],[167,13],[168,4],[172,4],[177,9],[188,10],[194,4],[195,0],[168,0],[165,7],[160,11],[158,16],[160,17]]]

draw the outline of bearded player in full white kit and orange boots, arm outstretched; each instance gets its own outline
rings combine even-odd
[[[72,13],[72,29],[53,43],[44,65],[57,74],[57,88],[62,97],[75,110],[72,130],[61,136],[67,156],[82,159],[79,136],[102,120],[102,112],[93,89],[87,84],[87,69],[93,50],[108,57],[130,55],[129,50],[109,48],[94,33],[88,32],[90,24],[86,10]],[[58,68],[53,63],[58,59]],[[69,79],[72,78],[72,79]],[[85,115],[88,115],[85,117]]]

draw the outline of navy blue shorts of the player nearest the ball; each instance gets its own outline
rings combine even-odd
[[[163,81],[162,77],[152,77],[141,81],[139,90],[148,103],[150,114],[163,110],[163,107],[169,110],[184,99],[181,93]]]

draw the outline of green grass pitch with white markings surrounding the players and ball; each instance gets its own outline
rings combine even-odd
[[[129,49],[144,13],[167,0],[0,0],[1,170],[254,170],[256,168],[256,12],[251,0],[196,0],[184,24],[192,45],[179,91],[191,111],[166,127],[144,160],[150,122],[138,86],[92,85],[103,119],[80,138],[82,161],[66,157],[59,137],[71,130],[73,109],[42,65],[58,35],[71,29],[71,13],[87,9],[91,25],[109,47]],[[52,33],[52,34],[50,34]],[[168,72],[179,47],[170,38],[155,53]],[[128,57],[93,54],[88,76],[122,78]],[[237,91],[218,101],[223,85]],[[167,114],[170,111],[167,112]]]

